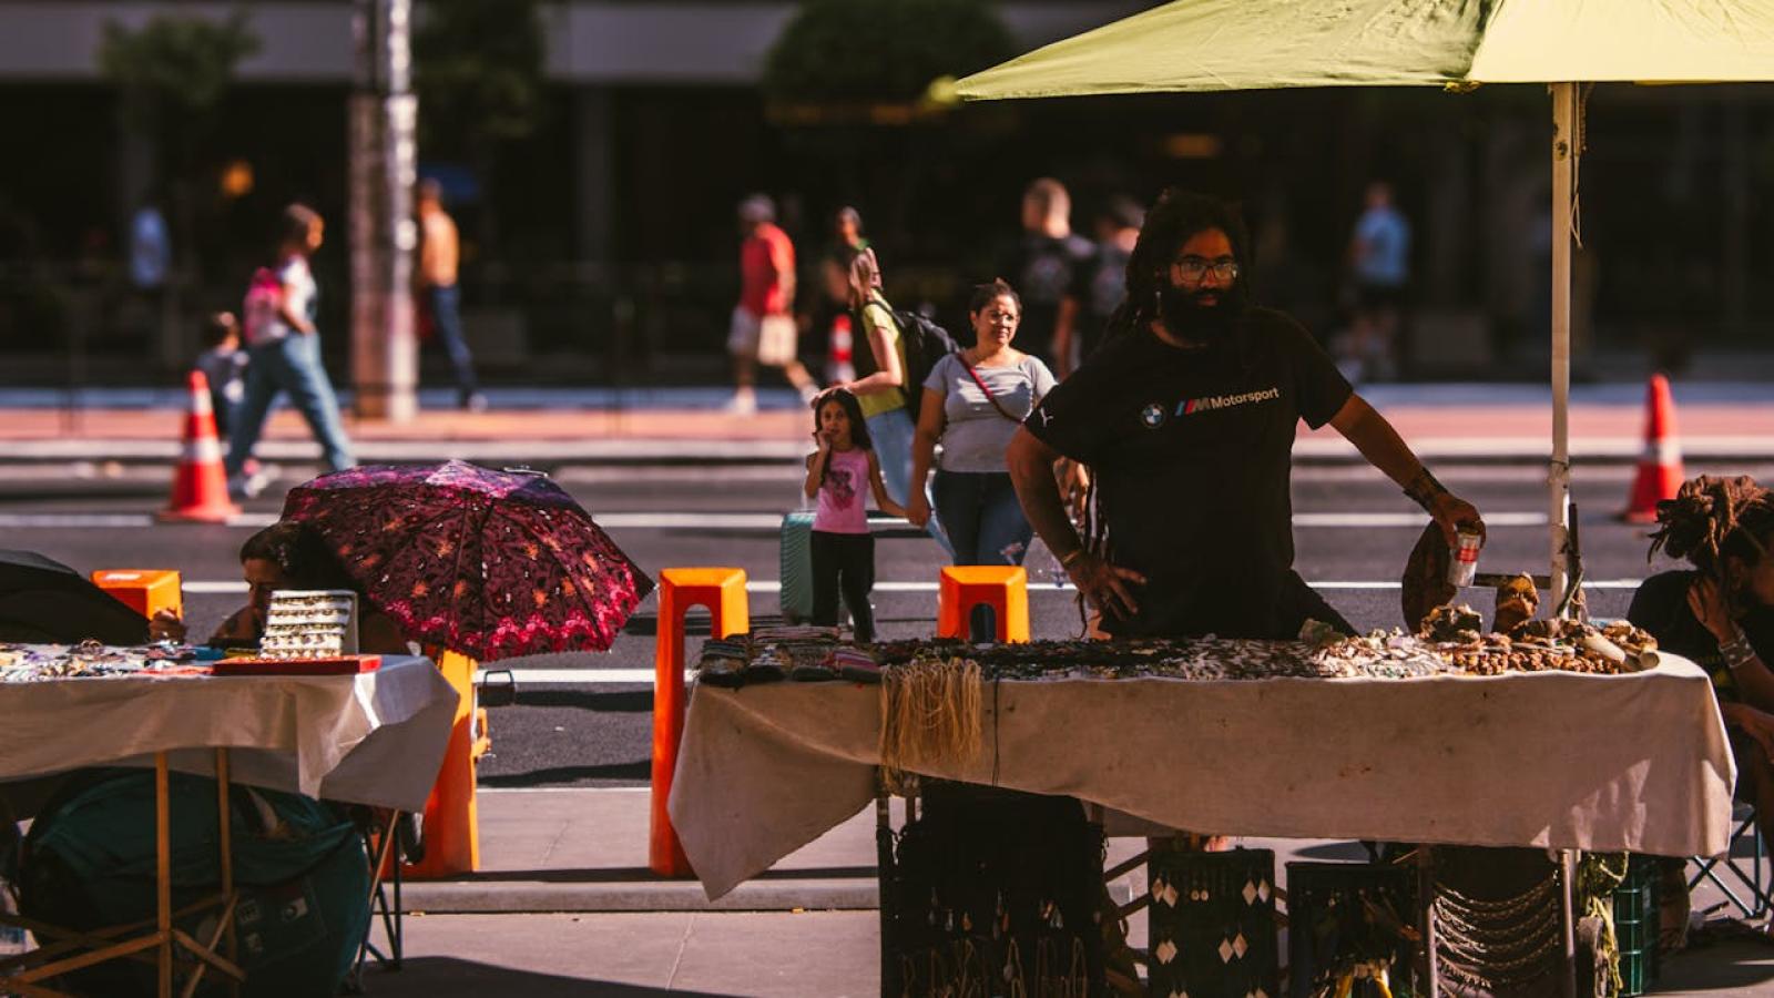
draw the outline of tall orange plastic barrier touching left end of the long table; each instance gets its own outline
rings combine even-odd
[[[653,678],[653,824],[648,836],[648,867],[662,877],[688,877],[690,859],[678,842],[678,829],[665,812],[678,744],[683,741],[683,613],[708,607],[713,638],[752,629],[743,568],[665,568],[660,572],[660,618],[655,638]]]

